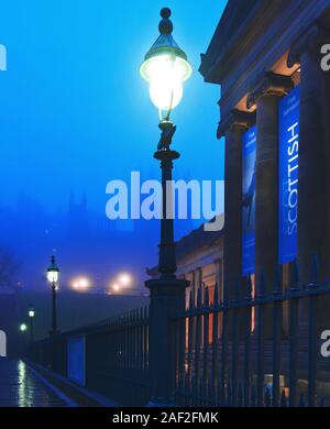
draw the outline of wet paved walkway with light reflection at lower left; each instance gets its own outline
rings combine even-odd
[[[0,358],[0,407],[66,406],[65,399],[23,361]]]

